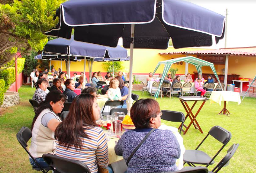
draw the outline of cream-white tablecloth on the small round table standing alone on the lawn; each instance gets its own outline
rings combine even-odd
[[[217,102],[220,105],[222,101],[241,103],[240,94],[233,91],[213,91],[209,99],[211,100],[210,103]]]

